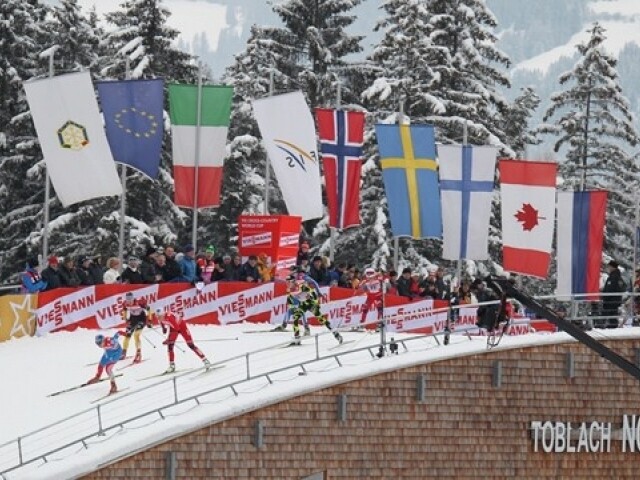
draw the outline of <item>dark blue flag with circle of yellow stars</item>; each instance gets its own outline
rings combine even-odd
[[[163,89],[161,78],[98,82],[113,158],[151,178],[160,165]]]

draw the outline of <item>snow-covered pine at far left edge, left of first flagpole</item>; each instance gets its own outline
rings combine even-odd
[[[42,161],[22,83],[42,73],[46,9],[36,2],[0,2],[0,280],[24,270],[37,256],[31,232],[42,228],[44,182],[29,175]]]

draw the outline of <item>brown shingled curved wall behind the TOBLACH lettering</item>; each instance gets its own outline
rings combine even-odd
[[[638,341],[609,346],[635,359]],[[566,375],[567,352],[575,376]],[[384,361],[384,360],[381,360]],[[494,386],[496,362],[501,386]],[[426,399],[416,399],[417,376]],[[640,453],[535,453],[533,420],[621,424],[640,414],[639,385],[582,345],[538,346],[446,360],[350,382],[202,428],[87,479],[640,478]],[[347,396],[346,420],[337,398]],[[264,446],[252,441],[264,425]]]

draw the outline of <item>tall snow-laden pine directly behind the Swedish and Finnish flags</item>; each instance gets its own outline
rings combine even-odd
[[[439,142],[461,143],[466,123],[468,143],[497,145],[513,156],[501,123],[508,103],[498,92],[509,86],[501,71],[509,59],[495,46],[497,22],[486,3],[386,0],[381,8],[385,18],[377,29],[384,36],[371,55],[380,73],[365,91],[369,110],[384,119],[402,102],[411,122],[435,125]],[[420,252],[440,263],[439,241],[409,245],[404,251],[401,245],[401,258],[422,264]]]

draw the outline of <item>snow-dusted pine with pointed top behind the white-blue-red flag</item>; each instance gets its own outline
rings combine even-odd
[[[616,60],[605,52],[604,28],[595,23],[589,39],[577,46],[580,57],[559,78],[565,90],[554,94],[541,132],[558,136],[555,151],[565,160],[560,174],[566,189],[609,191],[605,254],[631,266],[634,205],[638,202],[639,169],[625,147],[640,140],[630,105],[622,92]]]

